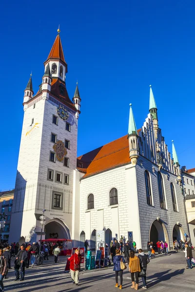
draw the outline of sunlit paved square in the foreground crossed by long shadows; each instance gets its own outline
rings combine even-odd
[[[195,257],[195,252],[193,252]],[[86,291],[99,292],[106,289],[106,292],[116,292],[115,274],[113,267],[108,269],[97,269],[97,271],[80,272],[79,286],[75,286],[70,274],[64,274],[66,257],[60,257],[55,264],[51,256],[42,266],[26,269],[25,281],[14,282],[14,271],[9,271],[9,278],[4,280],[4,291],[13,292],[64,292],[64,291]],[[147,269],[148,290],[151,292],[191,292],[195,291],[195,268],[186,269],[186,260],[181,251],[170,256],[158,256],[152,259]],[[139,281],[139,290],[142,281]],[[123,273],[123,290],[130,291],[131,276],[126,269]]]

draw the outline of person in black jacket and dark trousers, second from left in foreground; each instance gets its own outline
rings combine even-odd
[[[28,257],[28,253],[27,253],[27,251],[25,251],[24,246],[21,245],[20,246],[20,251],[16,255],[16,260],[15,260],[15,275],[16,275],[16,279],[14,281],[17,281],[19,279],[20,279],[20,281],[24,280],[25,264],[26,264],[27,257]],[[19,274],[19,269],[21,271],[21,277],[20,277],[20,274]]]

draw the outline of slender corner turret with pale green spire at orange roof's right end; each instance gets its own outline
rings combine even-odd
[[[132,110],[132,104],[130,104],[129,112],[129,128],[128,128],[128,139],[129,139],[129,157],[133,165],[137,164],[137,159],[139,157],[138,149],[138,135],[137,128],[134,119],[134,114]]]

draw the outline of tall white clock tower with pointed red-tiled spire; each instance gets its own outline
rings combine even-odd
[[[32,76],[24,91],[24,118],[10,226],[10,241],[19,243],[39,240],[39,217],[43,209],[46,224],[42,238],[72,239],[78,109],[66,89],[68,67],[59,33],[58,29],[44,62],[39,91],[34,95]]]

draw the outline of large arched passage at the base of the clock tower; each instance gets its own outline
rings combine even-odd
[[[45,239],[67,238],[71,239],[70,231],[60,219],[52,219],[45,225]]]

